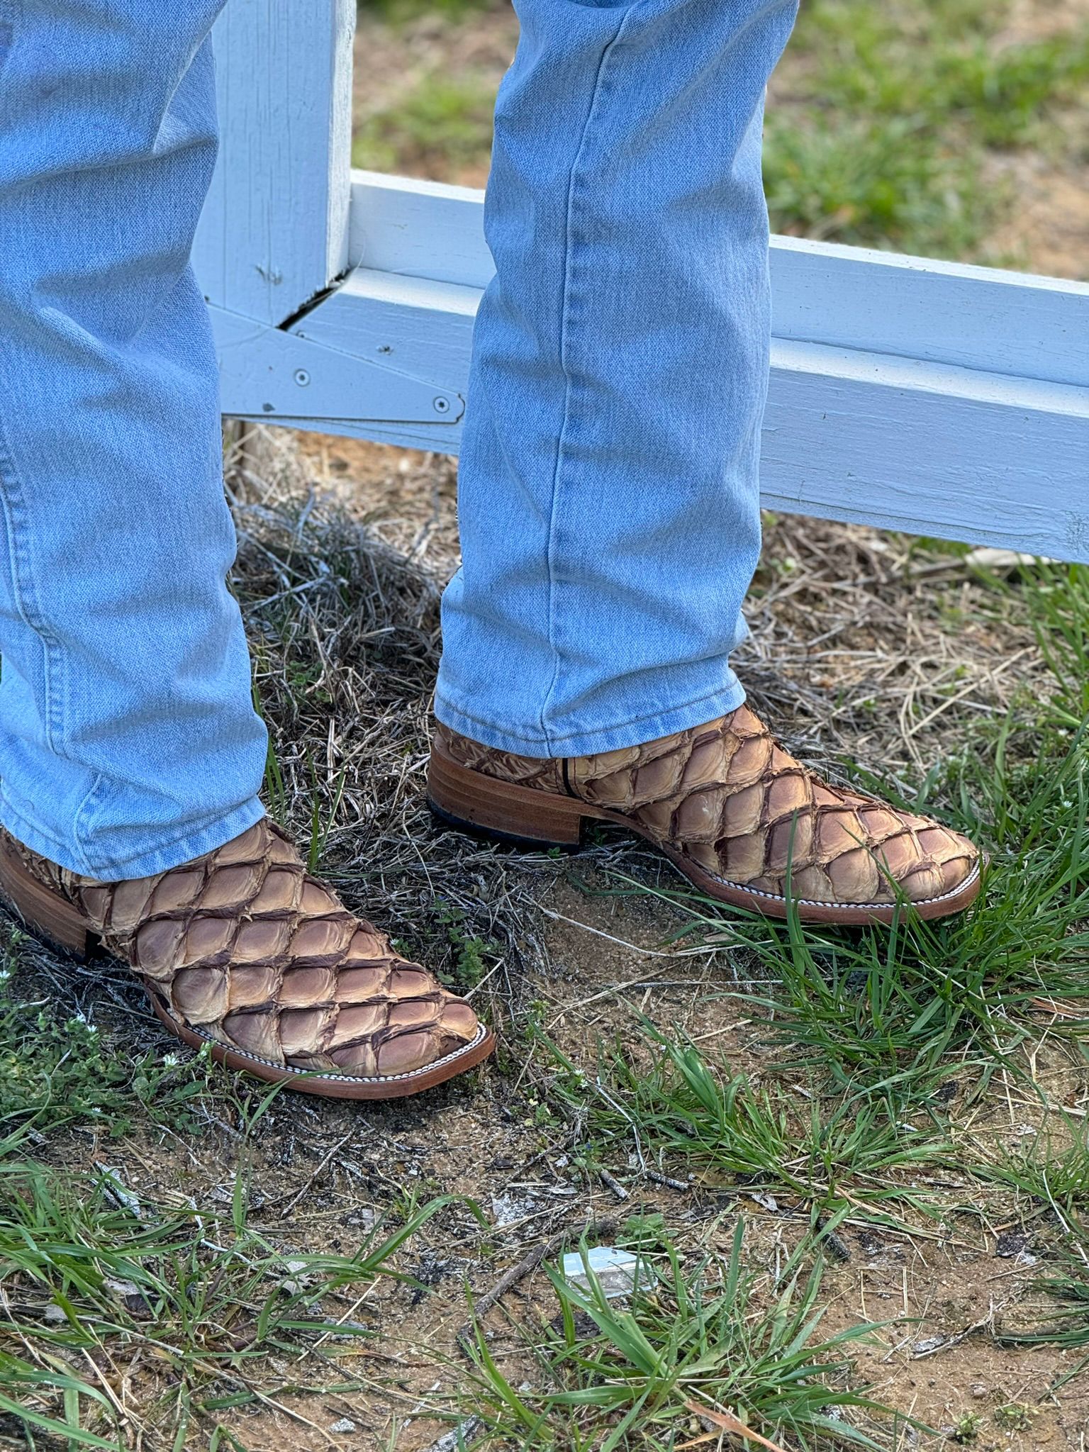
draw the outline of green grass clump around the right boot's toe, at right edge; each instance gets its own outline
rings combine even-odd
[[[774,1041],[836,1085],[926,1095],[966,1059],[1009,1061],[1051,1003],[1076,1009],[1089,974],[1089,758],[1085,738],[1063,732],[1006,720],[922,793],[992,854],[984,899],[961,918],[906,912],[890,932],[844,934],[693,906],[693,926],[754,953],[775,983]],[[1054,1031],[1083,1034],[1088,1019],[1073,1012]]]

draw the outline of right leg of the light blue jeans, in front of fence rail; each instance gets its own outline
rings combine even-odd
[[[768,375],[762,100],[796,0],[515,0],[439,719],[610,751],[741,704]]]

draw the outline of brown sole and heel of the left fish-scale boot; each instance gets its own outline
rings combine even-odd
[[[67,954],[77,963],[86,963],[100,948],[97,937],[87,931],[83,918],[71,903],[32,877],[19,857],[3,841],[0,841],[0,897],[13,916],[41,942]],[[136,977],[139,977],[138,973]],[[433,1089],[456,1074],[475,1069],[495,1048],[495,1035],[481,1025],[476,1038],[465,1048],[405,1074],[376,1074],[366,1079],[357,1074],[325,1074],[290,1069],[229,1048],[209,1034],[183,1024],[174,1016],[155,986],[147,979],[141,979],[141,982],[158,1019],[190,1048],[203,1048],[205,1044],[211,1044],[212,1059],[227,1069],[240,1069],[264,1080],[264,1083],[282,1083],[296,1093],[319,1095],[324,1099],[404,1099],[407,1095]]]

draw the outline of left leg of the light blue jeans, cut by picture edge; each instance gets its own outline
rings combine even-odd
[[[221,0],[0,0],[0,822],[141,877],[261,816],[189,251]]]

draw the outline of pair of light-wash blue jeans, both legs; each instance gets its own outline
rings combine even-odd
[[[100,878],[261,815],[189,250],[222,0],[0,0],[0,822]],[[518,0],[437,710],[531,755],[742,700],[794,0]],[[302,222],[301,222],[302,225]]]

